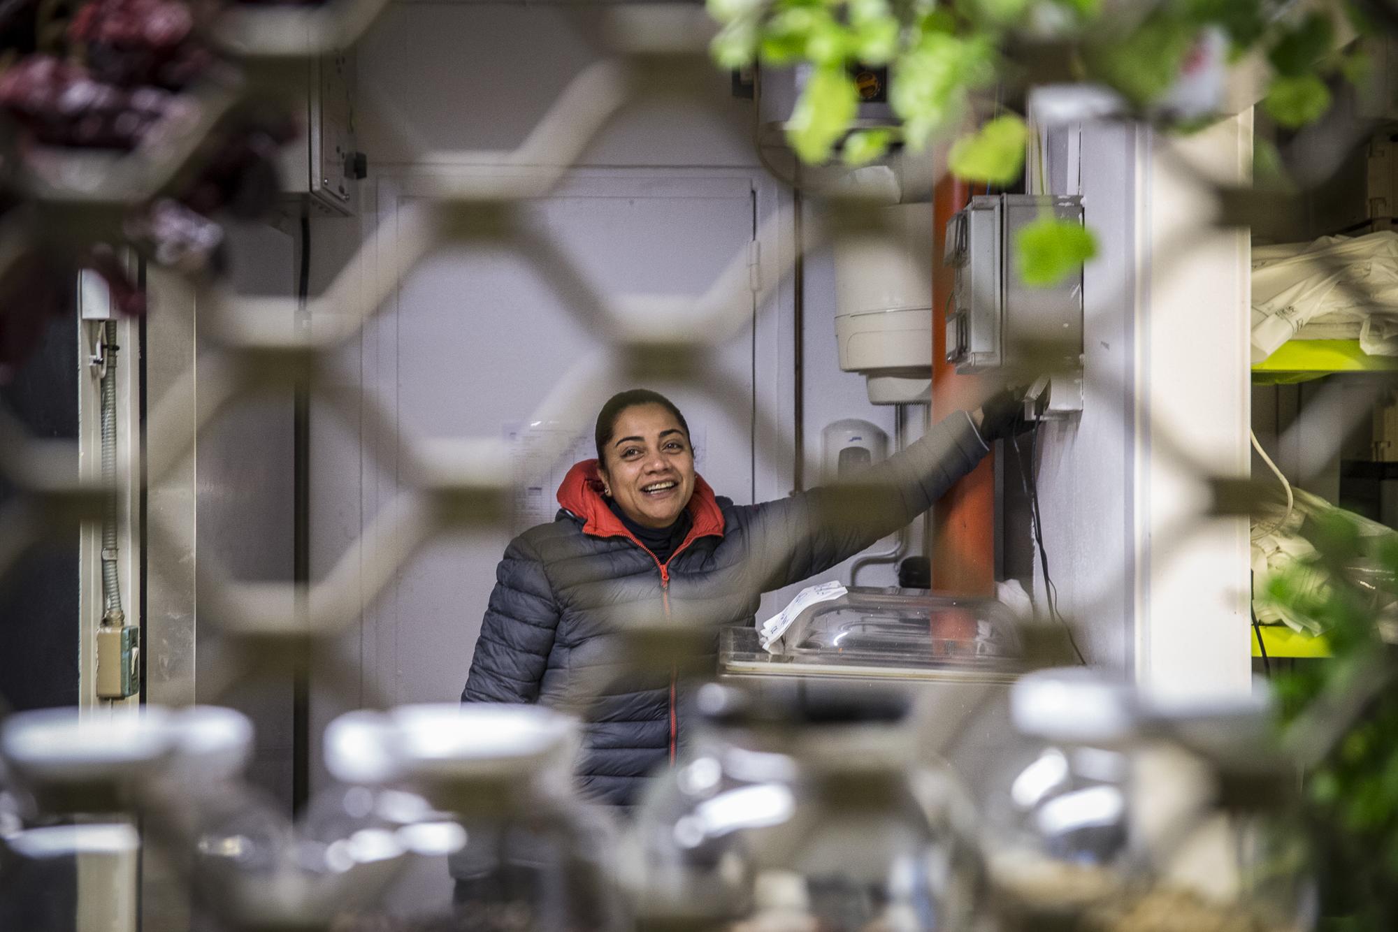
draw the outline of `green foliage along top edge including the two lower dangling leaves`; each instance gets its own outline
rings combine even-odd
[[[1205,67],[1204,50],[1222,42],[1234,63],[1261,50],[1271,68],[1267,112],[1300,127],[1329,109],[1331,80],[1359,81],[1366,73],[1362,52],[1335,53],[1339,24],[1370,31],[1363,0],[1306,8],[1282,0],[707,0],[707,8],[721,24],[713,56],[723,67],[808,68],[786,127],[802,162],[863,165],[893,145],[920,151],[934,138],[955,137],[952,173],[991,184],[1019,175],[1028,127],[998,105],[984,126],[966,124],[977,92],[1036,82],[1016,54],[1021,48],[1060,48],[1058,60],[1083,84],[1114,89],[1124,112],[1180,129],[1209,119],[1197,101],[1172,99],[1181,77]],[[857,124],[851,75],[868,66],[888,66],[896,126]],[[1022,231],[1019,249],[1040,257],[1026,281],[1047,284],[1067,274],[1061,263],[1069,257],[1081,264],[1095,254],[1096,243],[1082,226],[1044,225]]]

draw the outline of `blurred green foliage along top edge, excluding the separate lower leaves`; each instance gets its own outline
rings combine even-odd
[[[976,91],[997,82],[1035,82],[1007,49],[1057,43],[1083,82],[1116,89],[1149,115],[1181,74],[1197,67],[1208,34],[1226,36],[1230,59],[1265,52],[1275,108],[1289,126],[1324,115],[1331,75],[1360,77],[1355,56],[1332,54],[1339,22],[1367,29],[1359,0],[1329,0],[1297,11],[1279,0],[1166,0],[1142,6],[1102,0],[709,0],[721,24],[714,59],[734,68],[812,66],[791,129],[802,161],[823,162],[840,148],[856,113],[836,68],[889,66],[889,103],[900,126],[888,141],[921,148],[962,129]],[[816,77],[818,75],[818,77]],[[794,117],[795,115],[793,115]],[[836,134],[833,127],[843,131]],[[800,143],[797,141],[800,140]],[[867,158],[872,140],[856,148]]]

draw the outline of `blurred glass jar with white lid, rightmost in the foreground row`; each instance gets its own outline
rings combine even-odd
[[[1015,683],[981,802],[1002,928],[1310,928],[1296,785],[1265,710],[1145,701],[1088,669]]]

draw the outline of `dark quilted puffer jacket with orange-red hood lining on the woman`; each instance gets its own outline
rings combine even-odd
[[[850,558],[931,507],[986,454],[965,414],[851,482],[762,504],[716,497],[700,478],[692,528],[665,565],[603,500],[597,461],[579,463],[558,490],[562,510],[514,538],[475,644],[461,701],[545,703],[584,718],[584,792],[630,805],[679,739],[670,671],[625,669],[618,626],[672,618],[709,630],[752,625],[762,592]],[[698,619],[698,620],[696,620]]]

